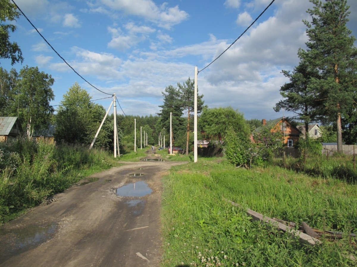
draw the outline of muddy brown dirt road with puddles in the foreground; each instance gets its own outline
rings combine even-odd
[[[154,152],[91,175],[2,225],[0,266],[157,266],[161,178],[182,163],[154,161]]]

